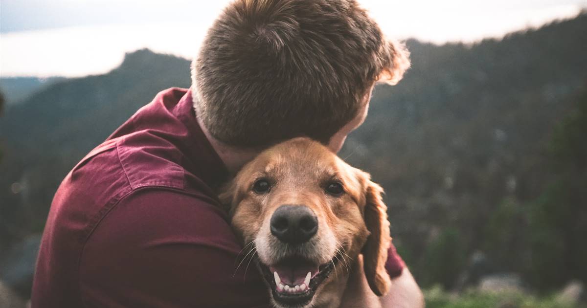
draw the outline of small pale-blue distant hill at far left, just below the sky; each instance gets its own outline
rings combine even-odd
[[[4,93],[6,103],[14,104],[33,92],[64,79],[63,77],[2,77],[0,78],[0,92]]]

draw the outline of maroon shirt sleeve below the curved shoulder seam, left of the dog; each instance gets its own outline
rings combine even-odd
[[[79,271],[83,302],[86,307],[268,307],[262,277],[241,249],[213,202],[165,189],[133,192],[85,245]]]

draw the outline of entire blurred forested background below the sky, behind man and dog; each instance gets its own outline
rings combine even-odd
[[[584,295],[555,293],[587,281],[587,15],[407,46],[412,69],[376,88],[340,157],[386,190],[394,243],[428,306],[580,305]],[[147,49],[104,75],[0,80],[0,276],[22,297],[16,252],[34,250],[60,181],[173,86],[190,86],[188,60]]]

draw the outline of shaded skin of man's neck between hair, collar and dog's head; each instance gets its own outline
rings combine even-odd
[[[231,176],[235,175],[239,170],[241,170],[242,166],[247,164],[251,161],[257,154],[261,153],[262,149],[259,148],[243,148],[243,147],[235,147],[234,145],[225,144],[220,140],[214,138],[208,128],[204,126],[204,123],[200,120],[200,117],[196,116],[198,120],[198,125],[204,132],[204,135],[210,141],[212,148],[216,151],[224,165],[226,166],[228,172],[230,172]]]

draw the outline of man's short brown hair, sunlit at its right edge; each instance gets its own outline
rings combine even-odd
[[[395,83],[408,67],[403,45],[354,0],[236,0],[192,63],[194,107],[230,145],[328,143],[373,83]]]

